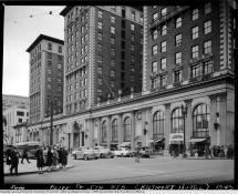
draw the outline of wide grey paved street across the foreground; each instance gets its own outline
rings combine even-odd
[[[56,172],[29,173],[6,176],[6,183],[91,183],[91,184],[162,184],[230,182],[234,180],[234,160],[183,160],[183,159],[100,159],[72,160],[74,167]],[[25,164],[27,165],[27,164]],[[34,165],[31,163],[30,165]],[[32,166],[33,167],[33,166]],[[37,169],[37,167],[35,167]]]

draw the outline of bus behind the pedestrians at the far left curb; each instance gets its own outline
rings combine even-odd
[[[35,152],[40,147],[39,142],[20,142],[15,143],[17,150],[20,154],[20,157],[23,155],[23,150],[28,145],[28,157],[29,159],[35,159]]]

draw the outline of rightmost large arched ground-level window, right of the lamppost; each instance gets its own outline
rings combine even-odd
[[[210,112],[206,104],[199,104],[194,109],[193,113],[193,136],[207,137],[209,136]]]

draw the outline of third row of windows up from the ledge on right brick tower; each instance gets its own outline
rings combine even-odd
[[[167,34],[167,25],[166,24],[163,24],[162,25],[162,30],[161,30],[161,35],[166,35]],[[152,31],[152,40],[156,40],[158,38],[158,30],[157,29],[154,29]],[[207,20],[204,22],[204,29],[203,29],[203,34],[209,34],[211,32],[211,20]],[[186,37],[187,38],[187,37]],[[192,27],[190,29],[190,38],[193,40],[199,38],[199,27],[198,25],[195,25],[195,27]],[[178,33],[175,35],[175,44],[176,47],[180,45],[182,43],[182,33]]]

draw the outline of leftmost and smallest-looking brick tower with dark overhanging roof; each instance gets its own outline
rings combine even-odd
[[[30,54],[30,124],[63,112],[64,42],[40,34],[27,49]]]

